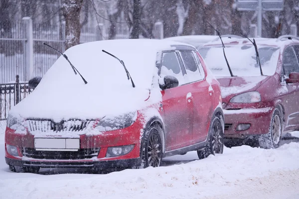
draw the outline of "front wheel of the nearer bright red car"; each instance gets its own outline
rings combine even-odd
[[[162,160],[162,143],[160,133],[162,129],[158,124],[151,125],[145,133],[142,151],[142,166],[158,167]]]

